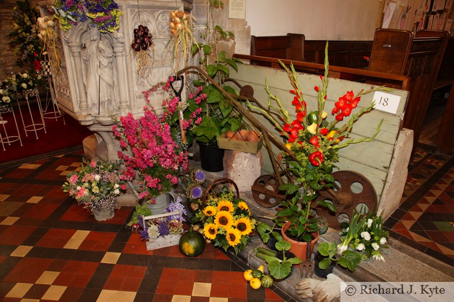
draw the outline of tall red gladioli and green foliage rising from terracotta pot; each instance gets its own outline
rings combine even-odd
[[[331,122],[328,122],[328,114],[324,111],[328,87],[327,47],[328,43],[325,47],[324,76],[320,76],[322,85],[314,87],[318,93],[317,110],[307,111],[298,75],[293,65],[288,68],[282,63],[280,64],[287,72],[293,88],[290,93],[293,96],[292,105],[295,106],[296,118],[291,117],[279,98],[271,93],[268,83],[266,83],[266,91],[270,100],[274,100],[277,106],[269,105],[269,110],[264,110],[248,103],[251,109],[265,115],[287,141],[288,150],[281,151],[279,159],[283,159],[290,166],[288,171],[291,173],[291,177],[290,182],[280,186],[279,190],[285,191],[289,200],[281,202],[282,210],[276,213],[275,220],[282,227],[282,234],[285,238],[286,232],[288,232],[291,237],[302,242],[317,238],[318,225],[315,217],[312,216],[313,209],[316,206],[327,207],[333,212],[336,210],[332,203],[316,201],[316,198],[320,190],[334,188],[334,177],[331,172],[334,163],[339,159],[339,149],[351,144],[372,141],[378,135],[383,121],[380,122],[372,137],[344,141],[350,135],[356,120],[373,109],[374,104],[372,103],[370,106],[361,108],[352,114],[360,102],[361,96],[375,90],[389,90],[378,87],[368,91],[360,91],[356,95],[353,91],[348,91],[334,104],[331,111],[334,118]],[[282,118],[283,125],[281,125],[280,120],[275,118],[275,114]],[[350,115],[352,116],[346,124],[338,126],[339,122]],[[312,244],[311,249],[313,246]],[[305,253],[295,254],[305,260]]]

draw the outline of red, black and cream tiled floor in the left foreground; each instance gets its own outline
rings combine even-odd
[[[125,225],[131,207],[96,222],[61,190],[81,159],[0,170],[1,301],[293,301],[274,286],[252,289],[247,267],[212,245],[197,258],[178,246],[147,251]]]

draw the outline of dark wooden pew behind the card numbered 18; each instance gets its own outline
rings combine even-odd
[[[447,31],[436,30],[421,30],[416,35],[396,29],[375,32],[369,70],[410,78],[410,99],[403,126],[414,131],[414,147],[421,134],[448,37]]]

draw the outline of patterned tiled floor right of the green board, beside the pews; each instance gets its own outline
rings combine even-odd
[[[390,235],[454,265],[454,157],[417,150],[401,205],[385,222]]]

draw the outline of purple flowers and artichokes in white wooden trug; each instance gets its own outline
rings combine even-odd
[[[143,217],[151,215],[151,210],[146,207],[146,204],[136,205],[136,211],[133,213],[131,221],[128,223],[133,229],[139,233],[142,240],[156,239],[159,236],[168,234],[179,234],[183,231],[182,222],[187,215],[185,206],[182,204],[180,197],[171,202],[164,213],[181,212],[180,215],[169,215],[162,218],[149,219],[143,223]]]

